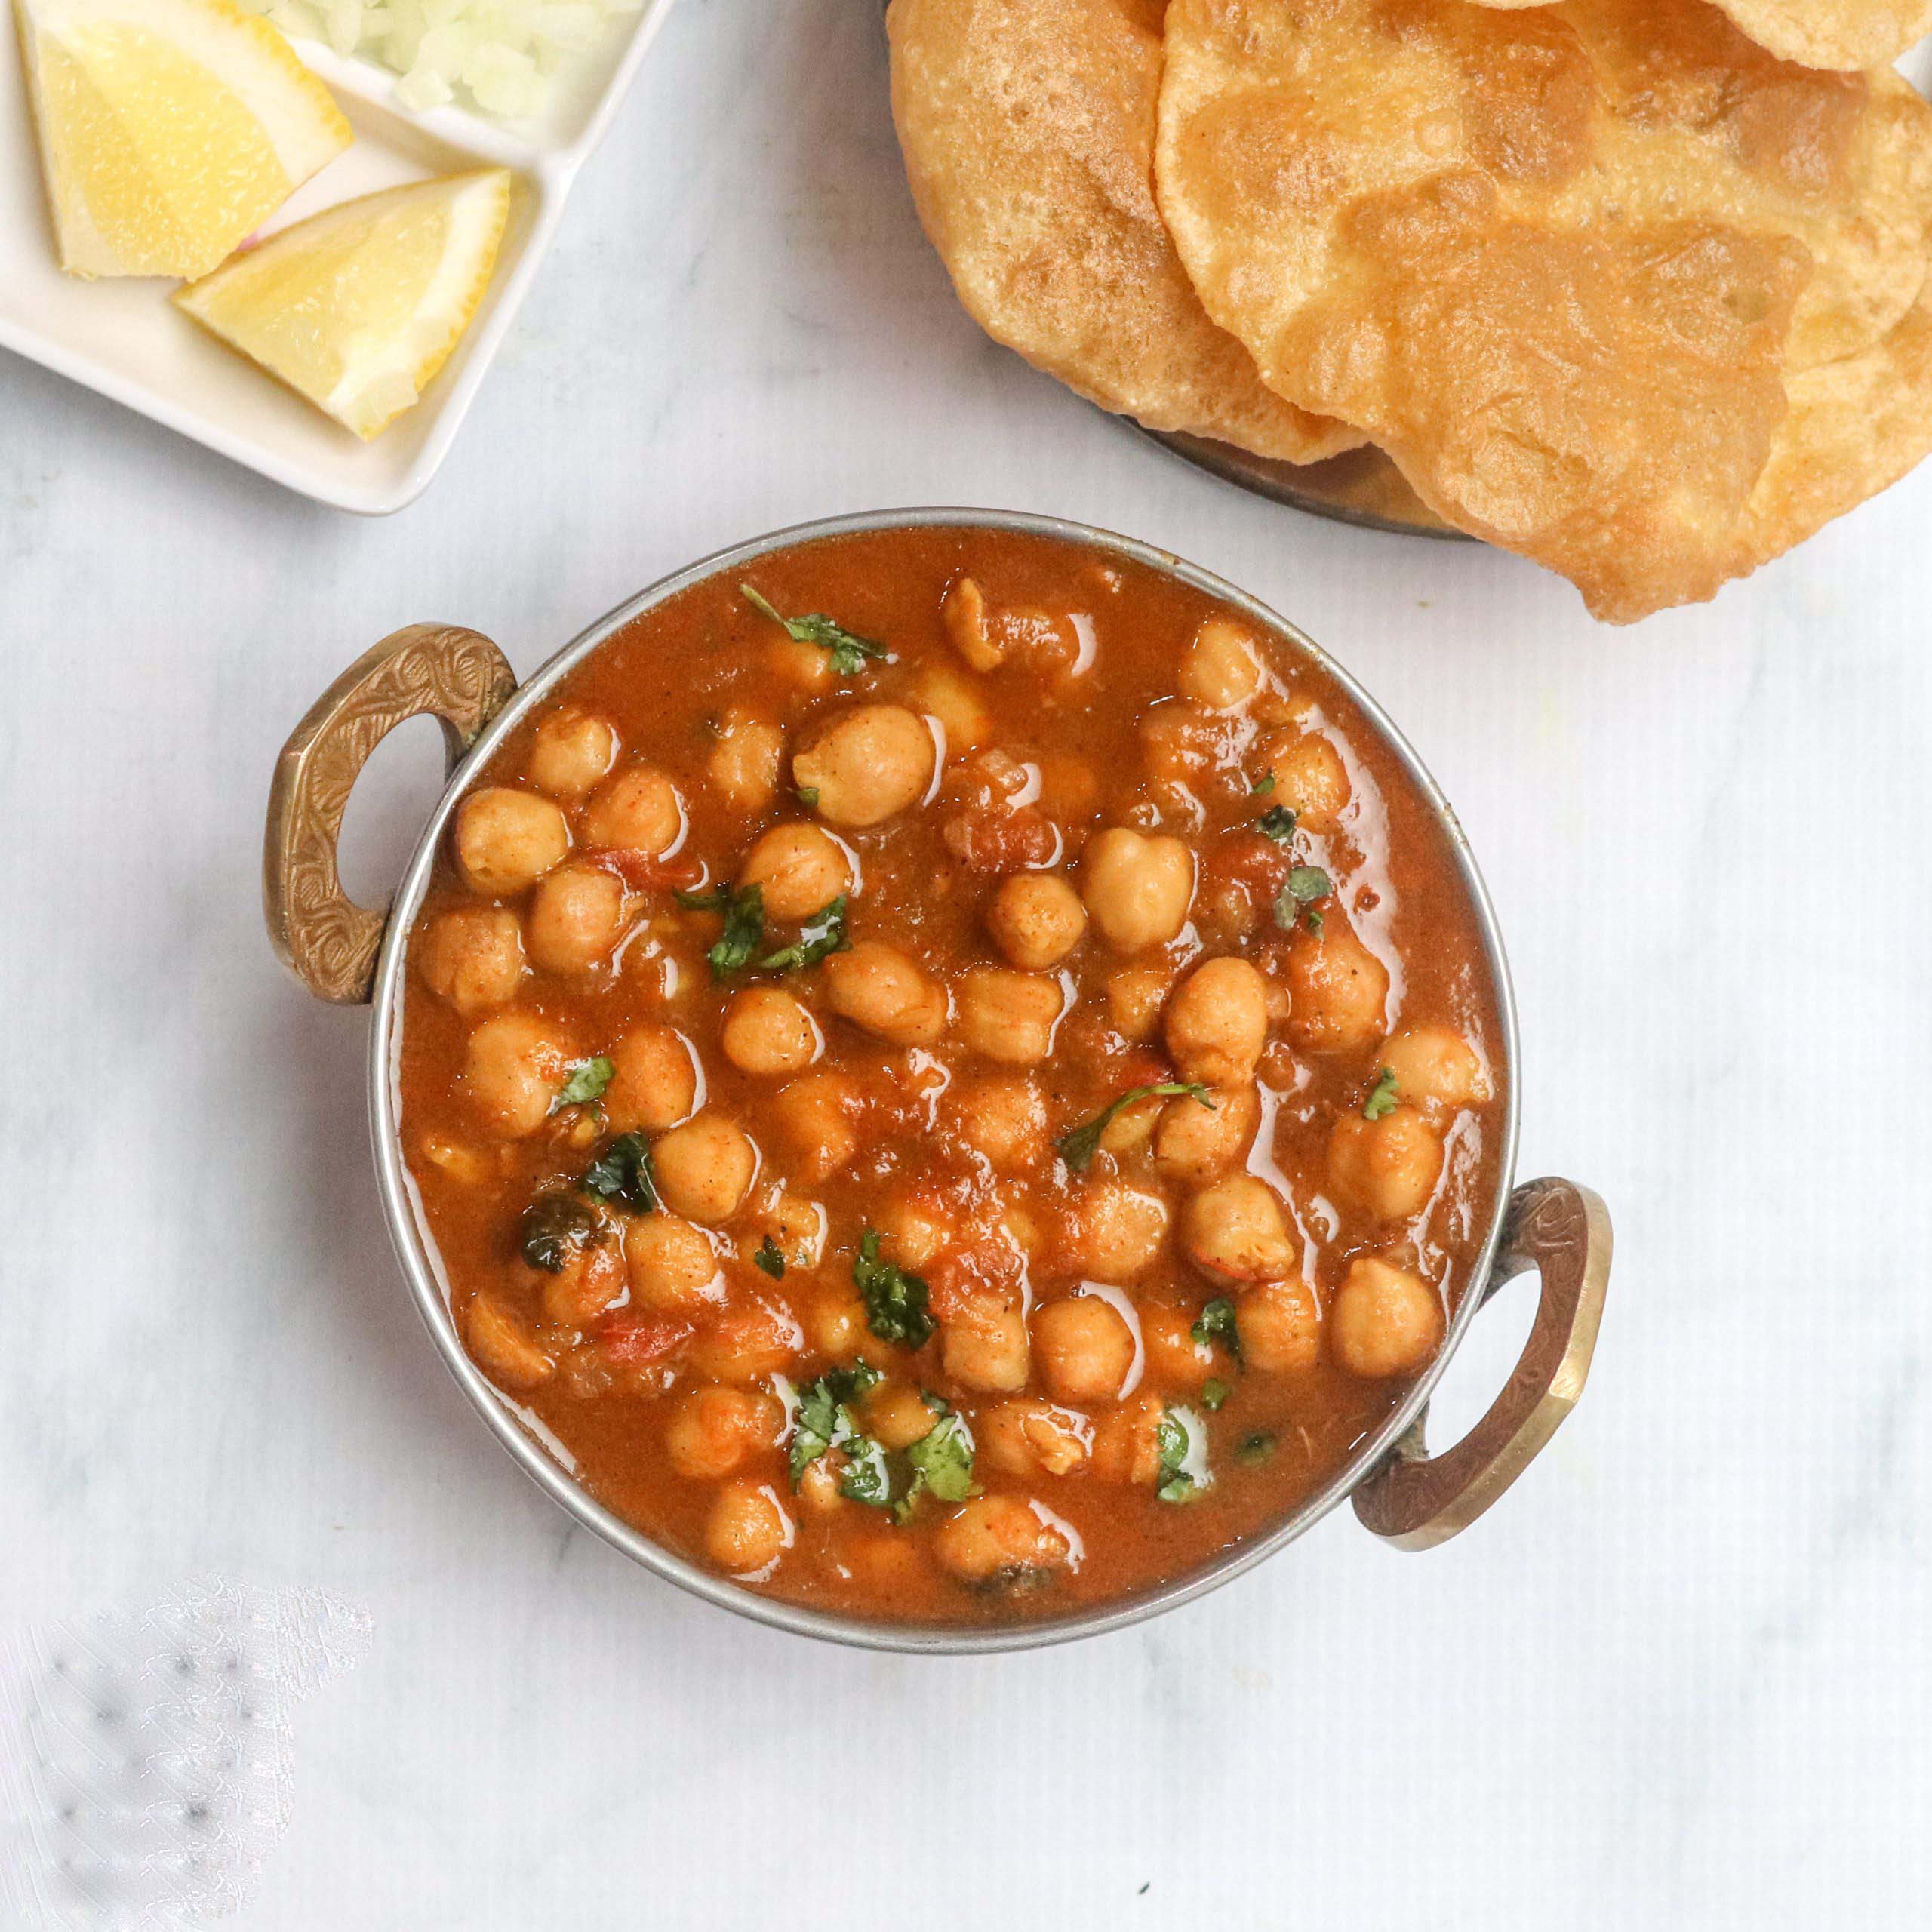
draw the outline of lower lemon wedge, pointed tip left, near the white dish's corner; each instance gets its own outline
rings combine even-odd
[[[412,182],[311,214],[174,299],[367,440],[462,340],[508,216],[508,168]]]

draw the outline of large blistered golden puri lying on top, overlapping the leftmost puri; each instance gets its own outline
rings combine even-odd
[[[1267,381],[1602,618],[1932,446],[1932,112],[1702,0],[1175,0],[1157,174]]]

